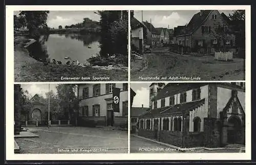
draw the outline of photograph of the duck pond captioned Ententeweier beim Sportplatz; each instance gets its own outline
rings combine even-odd
[[[14,81],[128,80],[128,11],[14,11]]]

